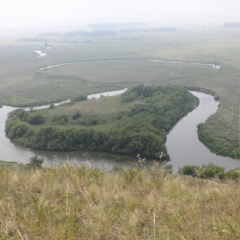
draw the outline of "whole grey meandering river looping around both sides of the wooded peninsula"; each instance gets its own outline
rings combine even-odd
[[[126,91],[126,89],[113,92],[105,92],[100,94],[89,95],[88,99],[98,98],[100,96],[118,95]],[[199,140],[197,136],[197,125],[214,114],[218,109],[219,102],[216,102],[211,95],[191,92],[200,100],[199,106],[191,113],[181,119],[167,136],[166,147],[170,155],[174,171],[184,165],[202,165],[210,162],[223,166],[226,170],[240,167],[240,161],[232,158],[217,156],[211,153]],[[69,100],[68,100],[69,101]],[[59,105],[59,104],[56,104]],[[49,105],[36,107],[41,109],[49,107]],[[87,163],[94,167],[104,167],[112,169],[114,166],[130,167],[129,161],[113,161],[101,157],[102,153],[85,153],[80,151],[59,152],[59,151],[43,151],[32,150],[19,147],[11,143],[5,135],[5,122],[8,113],[16,108],[2,106],[0,108],[0,160],[15,161],[19,163],[28,163],[30,157],[37,154],[44,158],[44,166],[50,167],[53,164],[69,161],[71,163]],[[26,109],[28,110],[28,109]]]

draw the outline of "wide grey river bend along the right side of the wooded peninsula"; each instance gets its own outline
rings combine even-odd
[[[167,136],[166,147],[174,170],[185,165],[213,163],[226,170],[240,167],[240,161],[229,157],[217,156],[210,152],[199,140],[197,125],[204,123],[218,109],[219,102],[211,95],[191,92],[199,98],[199,106],[182,118]]]

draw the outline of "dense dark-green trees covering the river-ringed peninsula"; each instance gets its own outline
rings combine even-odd
[[[167,133],[198,104],[198,99],[185,88],[144,85],[129,89],[118,101],[127,104],[127,110],[119,108],[107,120],[94,112],[82,114],[81,103],[72,103],[76,105],[75,112],[51,118],[43,114],[51,109],[17,109],[9,115],[5,131],[12,142],[33,149],[159,157],[161,152],[166,153]]]

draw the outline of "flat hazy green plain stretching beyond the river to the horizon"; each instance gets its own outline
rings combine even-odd
[[[38,105],[139,83],[201,87],[214,91],[221,105],[201,127],[200,139],[214,152],[239,156],[237,29],[188,27],[177,32],[78,39],[82,41],[77,43],[49,38],[51,49],[44,49],[44,42],[16,40],[0,43],[0,104]],[[47,56],[36,57],[33,51],[38,49]],[[185,63],[148,61],[157,59]],[[190,64],[215,62],[220,69]],[[62,63],[73,64],[39,71]]]

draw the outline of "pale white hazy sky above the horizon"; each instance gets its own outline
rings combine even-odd
[[[0,28],[86,22],[240,21],[240,0],[0,0]]]

